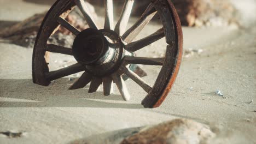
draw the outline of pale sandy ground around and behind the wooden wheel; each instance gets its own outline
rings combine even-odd
[[[46,4],[0,0],[1,26],[45,11]],[[151,23],[139,37],[159,27]],[[68,78],[49,87],[35,85],[32,49],[0,43],[0,131],[25,132],[16,139],[0,135],[0,143],[69,143],[178,117],[210,124],[218,134],[213,143],[256,143],[256,27],[184,27],[183,33],[184,49],[203,52],[183,58],[171,93],[156,109],[140,105],[146,93],[132,81],[127,81],[132,95],[128,102],[117,88],[109,97],[103,96],[102,89],[92,94],[87,93],[88,87],[68,91],[73,83]],[[137,55],[162,56],[164,47],[161,39]],[[74,62],[72,57],[51,56],[51,69]],[[143,69],[148,72],[145,80],[153,85],[160,67]],[[217,89],[224,97],[215,94]]]

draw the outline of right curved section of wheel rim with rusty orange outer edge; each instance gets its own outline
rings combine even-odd
[[[167,97],[176,80],[182,60],[183,35],[181,22],[170,0],[156,0],[155,4],[165,30],[166,56],[152,91],[142,100],[144,107],[158,107]]]

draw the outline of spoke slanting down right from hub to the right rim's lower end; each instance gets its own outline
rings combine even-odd
[[[144,80],[141,79],[141,77],[135,74],[132,70],[124,66],[120,67],[120,70],[123,71],[123,73],[130,77],[133,81],[138,83],[138,85],[141,86],[147,93],[149,93],[152,90],[152,87],[150,87]]]

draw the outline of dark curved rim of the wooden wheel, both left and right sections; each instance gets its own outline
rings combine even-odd
[[[154,0],[152,2],[164,26],[167,48],[165,61],[155,84],[148,95],[142,100],[142,105],[149,108],[160,106],[168,92],[170,92],[181,65],[183,48],[181,22],[171,1]],[[74,1],[57,0],[46,14],[39,29],[33,50],[32,75],[34,83],[43,86],[49,85],[51,79],[46,75],[46,73],[49,73],[45,60],[46,43],[50,35],[59,27],[59,23],[56,21],[57,18],[65,18],[74,6]],[[74,65],[74,67],[76,66]],[[83,69],[78,69],[77,72],[79,71],[83,71]]]

